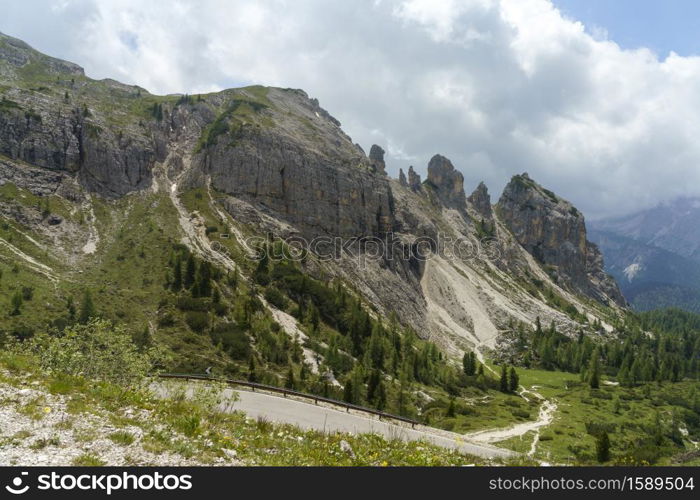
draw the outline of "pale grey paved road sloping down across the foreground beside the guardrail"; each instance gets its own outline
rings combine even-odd
[[[195,383],[190,382],[190,384]],[[157,384],[156,392],[167,397],[167,390],[160,384]],[[234,393],[238,395],[237,401],[231,401]],[[375,433],[387,439],[423,440],[484,458],[506,458],[515,455],[510,450],[468,441],[461,434],[424,426],[416,426],[412,429],[408,425],[379,420],[359,411],[346,411],[322,403],[315,405],[312,402],[265,392],[224,389],[223,402],[219,405],[219,409],[225,412],[241,411],[254,419],[265,418],[272,422],[292,424],[302,429],[321,432]]]

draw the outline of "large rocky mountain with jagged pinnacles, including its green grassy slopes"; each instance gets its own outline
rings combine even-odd
[[[156,96],[2,35],[0,329],[69,324],[90,295],[179,369],[245,372],[255,352],[273,378],[294,339],[347,373],[372,333],[353,314],[449,357],[538,318],[611,329],[626,303],[570,203],[523,174],[494,206],[444,156],[427,170],[389,178],[301,90]]]

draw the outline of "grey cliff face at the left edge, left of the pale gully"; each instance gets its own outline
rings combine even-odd
[[[2,34],[0,81],[13,87],[0,99],[0,154],[76,176],[88,190],[108,197],[150,185],[155,134],[145,127],[115,126],[90,109],[98,101],[101,107],[117,107],[98,92],[127,95],[132,87],[89,80],[80,66]],[[31,90],[34,86],[39,90]]]

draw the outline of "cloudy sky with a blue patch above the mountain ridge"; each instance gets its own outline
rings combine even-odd
[[[527,171],[589,217],[700,195],[693,0],[0,0],[0,31],[155,93],[303,88],[389,170]]]

